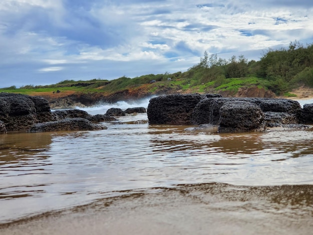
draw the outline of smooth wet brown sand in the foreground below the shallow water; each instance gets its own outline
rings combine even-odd
[[[177,185],[0,224],[0,234],[311,234],[313,185]]]

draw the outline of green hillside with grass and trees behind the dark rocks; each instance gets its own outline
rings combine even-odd
[[[217,54],[204,52],[198,64],[185,72],[147,74],[113,80],[91,79],[63,80],[52,85],[25,85],[0,88],[4,92],[75,92],[112,93],[124,89],[144,88],[147,92],[175,89],[190,92],[227,91],[235,94],[240,87],[258,86],[270,89],[277,95],[289,93],[300,85],[313,87],[313,44],[303,46],[298,41],[290,42],[288,48],[268,49],[259,61],[248,61],[243,55],[230,59],[218,58]]]

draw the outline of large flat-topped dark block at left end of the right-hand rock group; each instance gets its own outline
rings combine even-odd
[[[195,105],[201,94],[169,94],[151,98],[147,108],[150,124],[190,124]]]

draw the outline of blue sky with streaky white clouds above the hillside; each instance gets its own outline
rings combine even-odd
[[[1,0],[0,87],[186,71],[313,43],[312,0]]]

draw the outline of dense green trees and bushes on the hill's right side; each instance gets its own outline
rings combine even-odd
[[[313,44],[304,46],[294,41],[288,48],[270,48],[258,61],[248,61],[243,55],[233,55],[226,60],[205,51],[200,62],[190,67],[187,73],[197,83],[225,82],[224,79],[233,77],[263,78],[265,86],[276,94],[300,85],[313,87]]]

